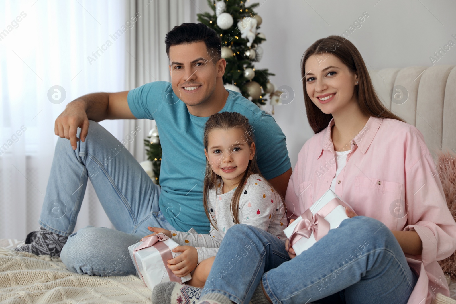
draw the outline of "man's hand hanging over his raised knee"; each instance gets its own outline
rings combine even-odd
[[[54,124],[54,133],[70,140],[73,150],[76,150],[76,137],[78,127],[81,128],[81,140],[84,141],[88,134],[87,113],[81,103],[68,103],[65,110],[57,117]]]

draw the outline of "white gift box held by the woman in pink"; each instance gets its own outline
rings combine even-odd
[[[312,216],[314,216],[318,211],[321,211],[321,209],[326,206],[330,201],[333,199],[338,199],[340,200],[338,203],[342,203],[347,205],[350,209],[352,209],[345,201],[342,201],[331,189],[325,192],[323,196],[321,196],[318,201],[316,201],[310,208],[309,210],[312,212]],[[323,217],[327,222],[329,222],[330,229],[334,229],[339,227],[340,223],[348,218],[347,213],[345,212],[345,207],[342,205],[338,205],[335,207],[331,212],[329,212],[326,216]],[[301,222],[302,216],[299,216],[294,222],[292,222],[288,227],[285,228],[284,233],[286,237],[290,240],[290,237],[292,236],[296,225]],[[301,254],[301,252],[309,249],[313,244],[315,244],[317,241],[314,237],[314,232],[311,232],[311,235],[309,238],[306,237],[301,237],[294,245],[293,245],[293,250],[295,250],[296,255]]]

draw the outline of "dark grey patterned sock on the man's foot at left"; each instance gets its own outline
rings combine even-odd
[[[60,257],[63,245],[68,237],[46,230],[40,227],[38,231],[30,232],[25,245],[14,248],[15,251],[30,252],[36,255],[50,255]]]

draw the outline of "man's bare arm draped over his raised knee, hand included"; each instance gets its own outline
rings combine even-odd
[[[127,102],[128,91],[119,93],[92,93],[81,96],[68,103],[65,110],[57,117],[54,133],[70,140],[76,149],[78,127],[81,128],[81,140],[88,134],[89,119],[96,122],[104,119],[136,119]]]

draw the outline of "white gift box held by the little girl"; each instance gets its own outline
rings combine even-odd
[[[159,234],[161,235],[161,233]],[[166,238],[163,241],[158,241],[163,243],[167,247],[169,247],[170,252],[172,254],[172,258],[176,258],[177,256],[181,255],[182,252],[172,252],[172,249],[179,246],[176,242],[171,240],[171,238],[166,237],[163,235],[163,238]],[[147,238],[143,238],[145,240]],[[164,282],[170,282],[170,277],[168,275],[168,266],[163,261],[161,257],[161,253],[159,249],[154,246],[145,247],[135,252],[135,249],[139,247],[143,242],[137,242],[128,247],[128,251],[130,252],[130,257],[135,265],[137,275],[142,278],[143,282],[150,290],[152,290],[155,285]],[[163,247],[163,246],[162,246]],[[181,283],[187,282],[190,280],[192,276],[187,274],[185,277],[180,277]]]

